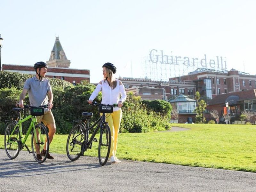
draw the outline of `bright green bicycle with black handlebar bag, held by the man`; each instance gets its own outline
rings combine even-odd
[[[43,163],[47,158],[49,152],[49,136],[48,131],[44,124],[36,122],[36,116],[44,115],[44,108],[47,108],[48,105],[42,105],[39,107],[32,107],[28,105],[24,105],[24,108],[13,108],[13,111],[18,112],[18,121],[17,120],[6,120],[10,121],[7,125],[7,128],[4,133],[4,148],[7,156],[10,159],[15,159],[20,150],[24,147],[28,150],[28,153],[32,153],[35,160],[38,163]],[[30,115],[26,116],[25,118],[20,118],[20,111],[21,110],[30,110]],[[22,132],[22,123],[31,119],[31,123],[29,125],[28,131],[23,137]],[[32,133],[31,136],[31,151],[29,150],[28,146],[26,145],[26,141],[28,136]],[[46,147],[46,154],[44,157],[40,155],[42,149]]]

